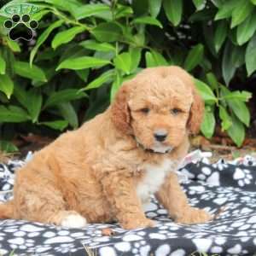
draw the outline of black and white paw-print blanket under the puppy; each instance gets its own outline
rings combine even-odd
[[[15,170],[22,161],[0,164],[0,190],[13,187]],[[19,171],[17,171],[19,172]],[[181,181],[195,207],[215,213],[207,224],[176,224],[154,198],[147,216],[154,228],[122,230],[118,224],[89,224],[84,229],[65,229],[23,220],[0,220],[0,255],[256,255],[256,159],[250,156],[209,165],[207,159],[180,170]],[[0,192],[1,193],[1,192]],[[1,193],[0,201],[11,192]],[[110,228],[113,236],[102,236]],[[207,254],[201,254],[207,253]]]

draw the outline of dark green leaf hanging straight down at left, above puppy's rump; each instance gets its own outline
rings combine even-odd
[[[38,121],[38,116],[41,111],[43,97],[39,90],[33,88],[27,92],[26,108],[32,118],[32,122]]]

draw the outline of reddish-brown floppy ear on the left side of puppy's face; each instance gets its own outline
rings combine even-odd
[[[121,86],[117,92],[113,103],[111,105],[111,119],[113,125],[119,130],[126,134],[131,134],[130,125],[130,110],[128,106],[129,96],[131,89],[129,84],[126,82]]]

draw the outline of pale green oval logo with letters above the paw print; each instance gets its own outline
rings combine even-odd
[[[1,13],[6,16],[12,15],[33,15],[38,13],[40,8],[34,4],[30,3],[13,3],[13,4],[6,4],[1,9]]]

